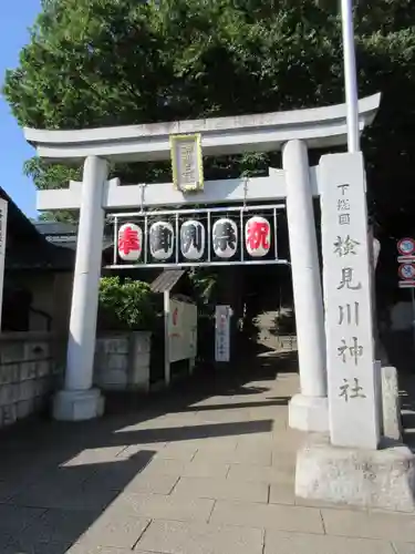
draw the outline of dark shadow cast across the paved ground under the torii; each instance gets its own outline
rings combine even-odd
[[[289,397],[249,402],[250,396],[269,390],[266,386],[249,383],[274,379],[289,359],[284,356],[283,362],[280,359],[257,360],[248,368],[245,365],[239,371],[226,375],[201,372],[187,382],[176,383],[169,392],[148,399],[136,396],[134,406],[128,404],[128,413],[120,412],[121,407],[115,404],[117,409],[114,409],[113,404],[113,413],[96,421],[32,420],[2,430],[0,552],[63,554],[85,532],[86,538],[93,536],[97,520],[100,529],[113,526],[116,533],[118,525],[125,532],[128,523],[125,517],[117,521],[114,513],[106,514],[106,511],[122,492],[141,492],[142,472],[157,454],[158,443],[263,433],[272,430],[273,420],[178,423],[177,427],[164,427],[160,421],[158,429],[134,429],[134,425],[167,413],[184,412],[191,418],[189,412],[196,411],[284,406]],[[237,399],[235,403],[194,406],[212,396]],[[132,445],[135,453],[127,455],[126,450]],[[169,494],[174,482],[165,480],[159,486],[165,486],[160,494]],[[132,550],[148,522],[135,517],[128,524],[133,530],[124,533],[125,547]]]

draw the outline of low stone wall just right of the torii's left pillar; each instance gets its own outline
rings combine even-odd
[[[151,334],[106,334],[96,339],[94,382],[103,390],[149,388]]]

